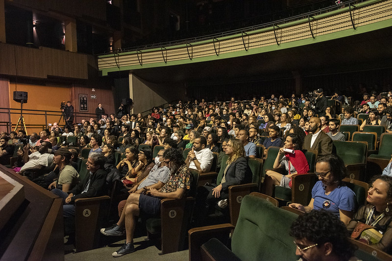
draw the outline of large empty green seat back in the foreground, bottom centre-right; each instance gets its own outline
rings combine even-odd
[[[297,217],[263,198],[246,195],[231,241],[233,253],[240,260],[295,260],[294,238],[288,231]]]

